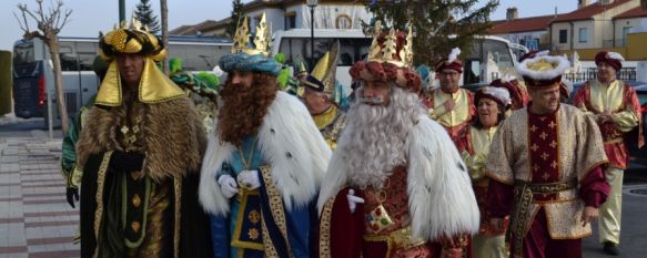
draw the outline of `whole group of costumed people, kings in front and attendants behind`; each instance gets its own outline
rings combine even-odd
[[[101,86],[61,158],[82,257],[582,257],[596,219],[618,255],[627,145],[643,144],[621,55],[596,55],[573,105],[570,64],[546,52],[471,92],[454,49],[425,90],[411,29],[376,24],[347,102],[338,43],[277,80],[267,28],[240,23],[220,87],[163,74],[137,22],[100,40]]]

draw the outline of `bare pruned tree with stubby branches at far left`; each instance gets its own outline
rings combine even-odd
[[[50,2],[50,7],[46,10],[42,2],[43,0],[36,0],[38,3],[38,9],[31,11],[27,8],[24,3],[18,3],[18,10],[20,10],[19,16],[13,12],[13,17],[18,20],[20,29],[24,31],[22,35],[24,39],[31,40],[38,38],[42,40],[50,50],[50,55],[52,58],[52,65],[54,69],[54,85],[57,90],[57,104],[59,106],[59,114],[61,116],[61,127],[63,134],[68,132],[68,110],[64,104],[63,95],[63,78],[61,72],[61,59],[59,56],[59,32],[68,23],[68,19],[72,14],[72,10],[62,10],[63,1],[59,0],[55,4]],[[30,30],[28,17],[36,21],[36,30]],[[21,19],[22,18],[22,19]],[[49,101],[49,100],[48,100]],[[52,117],[50,117],[51,120]]]

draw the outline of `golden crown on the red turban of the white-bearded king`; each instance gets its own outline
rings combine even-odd
[[[393,28],[387,34],[382,33],[382,23],[375,22],[373,30],[373,42],[368,50],[368,62],[392,63],[398,68],[411,68],[413,65],[413,32],[408,27],[408,33],[404,39],[404,45],[398,45],[397,37],[402,37]]]

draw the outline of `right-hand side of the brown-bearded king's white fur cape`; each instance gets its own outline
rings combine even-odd
[[[319,194],[332,152],[305,105],[279,92],[259,138],[259,147],[272,166],[272,176],[287,210],[312,202]]]

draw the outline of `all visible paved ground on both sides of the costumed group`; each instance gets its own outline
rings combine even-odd
[[[60,131],[50,141],[42,130],[42,120],[16,124],[0,117],[0,258],[78,257],[78,210],[65,203],[58,168]],[[627,171],[619,257],[647,257],[646,194],[646,167]],[[596,235],[584,240],[584,257],[607,257]]]

